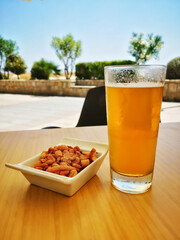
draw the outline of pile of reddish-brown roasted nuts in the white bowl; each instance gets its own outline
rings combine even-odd
[[[34,168],[74,177],[96,159],[94,148],[90,152],[82,152],[78,146],[73,148],[72,146],[60,145],[54,148],[50,147],[48,151],[43,151]]]

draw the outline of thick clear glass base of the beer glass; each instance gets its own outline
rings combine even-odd
[[[125,193],[139,194],[147,192],[152,185],[152,176],[152,173],[142,177],[124,176],[111,169],[113,187]]]

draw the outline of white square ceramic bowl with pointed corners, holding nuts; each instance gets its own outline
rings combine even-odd
[[[31,184],[72,196],[97,173],[108,153],[108,145],[75,138],[64,138],[57,145],[79,146],[83,151],[95,148],[98,152],[98,158],[72,178],[33,168],[36,161],[40,159],[41,153],[18,164],[6,163],[5,166],[21,171]]]

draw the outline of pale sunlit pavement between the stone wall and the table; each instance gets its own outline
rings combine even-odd
[[[83,97],[0,94],[0,131],[75,127]],[[180,122],[180,102],[163,102],[161,122]]]

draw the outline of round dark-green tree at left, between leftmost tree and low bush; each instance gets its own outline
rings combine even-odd
[[[17,78],[19,79],[19,75],[22,73],[25,73],[26,68],[27,68],[26,64],[20,56],[10,55],[6,59],[6,66],[5,66],[4,70],[7,71],[8,74],[9,74],[9,71],[16,74]]]

